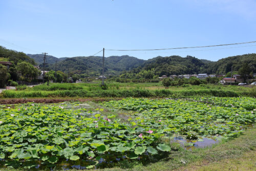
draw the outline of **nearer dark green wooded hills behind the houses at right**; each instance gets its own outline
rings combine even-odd
[[[244,54],[231,56],[217,62],[199,60],[193,56],[168,56],[153,58],[144,62],[143,66],[130,71],[123,71],[120,78],[126,79],[154,79],[162,75],[180,74],[226,74],[231,71],[239,72],[243,65],[246,65],[246,74],[256,72],[256,54]],[[249,70],[249,71],[248,71]],[[243,71],[242,71],[243,72]]]

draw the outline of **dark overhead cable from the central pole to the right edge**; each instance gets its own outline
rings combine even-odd
[[[209,46],[164,48],[164,49],[105,49],[105,50],[109,50],[109,51],[153,51],[153,50],[171,50],[171,49],[190,49],[190,48],[205,48],[205,47],[216,47],[216,46],[230,46],[230,45],[241,45],[241,44],[249,44],[249,43],[256,43],[256,41],[243,42],[243,43],[221,44],[221,45],[209,45]]]

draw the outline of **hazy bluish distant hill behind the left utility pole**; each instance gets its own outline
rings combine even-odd
[[[40,65],[42,63],[44,63],[44,54],[27,54],[30,58],[34,59],[37,65]],[[66,58],[56,58],[54,56],[51,55],[46,55],[46,63],[48,64],[53,64],[56,61],[63,61]]]

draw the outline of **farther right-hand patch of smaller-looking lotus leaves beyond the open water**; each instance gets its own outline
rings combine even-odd
[[[247,125],[256,122],[254,98],[214,97],[208,100],[216,103],[209,104],[204,99],[195,102],[128,98],[103,102],[102,105],[136,111],[136,117],[144,121],[151,120],[155,125],[166,125],[164,130],[188,140],[207,136],[217,138],[219,135],[225,138],[237,137]],[[168,151],[170,147],[158,144],[157,149]]]

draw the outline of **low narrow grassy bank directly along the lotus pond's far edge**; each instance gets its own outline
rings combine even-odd
[[[46,97],[113,97],[113,98],[125,98],[125,97],[191,97],[191,96],[216,96],[216,97],[254,97],[254,91],[230,91],[230,90],[216,90],[216,89],[199,89],[199,90],[56,90],[56,91],[15,91],[7,90],[2,92],[4,98],[46,98]]]

